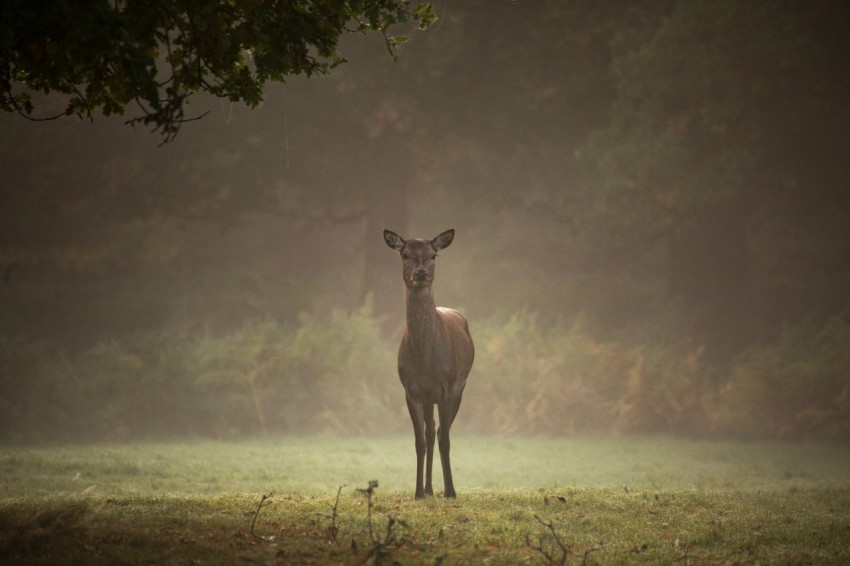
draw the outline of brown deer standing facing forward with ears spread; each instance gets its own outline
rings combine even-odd
[[[416,499],[434,495],[431,469],[435,437],[439,437],[443,495],[457,497],[449,459],[449,431],[472,369],[475,346],[463,315],[454,309],[435,306],[432,291],[437,252],[449,247],[454,235],[451,229],[433,240],[405,240],[391,230],[384,230],[386,244],[401,255],[406,289],[407,326],[398,349],[398,376],[413,423]],[[435,406],[440,418],[436,433]]]

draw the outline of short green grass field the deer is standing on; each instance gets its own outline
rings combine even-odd
[[[847,447],[458,436],[452,450],[458,499],[414,501],[408,438],[0,448],[0,562],[850,563]]]

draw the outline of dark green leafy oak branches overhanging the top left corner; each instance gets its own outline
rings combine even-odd
[[[30,118],[124,114],[172,139],[189,98],[206,92],[250,107],[267,82],[325,74],[344,61],[346,32],[376,31],[395,54],[405,36],[391,26],[434,21],[408,0],[125,0],[3,3],[0,108]],[[45,115],[34,93],[58,92],[66,106]]]

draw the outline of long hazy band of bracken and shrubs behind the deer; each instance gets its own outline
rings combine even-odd
[[[473,321],[457,430],[850,438],[850,324],[786,327],[723,383],[702,349],[601,341],[522,311]],[[409,434],[397,337],[371,303],[249,320],[218,336],[139,332],[73,357],[0,338],[0,439]]]

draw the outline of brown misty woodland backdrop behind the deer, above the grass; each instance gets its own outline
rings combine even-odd
[[[0,440],[406,433],[398,255],[457,429],[850,437],[842,2],[445,2],[161,139],[0,116]]]

